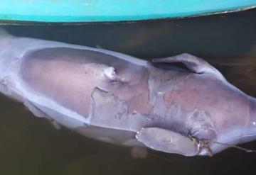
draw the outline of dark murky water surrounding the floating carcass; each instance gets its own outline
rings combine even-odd
[[[189,52],[205,58],[235,86],[256,96],[256,10],[140,23],[4,28],[14,35],[100,46],[145,59]],[[55,130],[4,96],[0,96],[0,109],[3,175],[256,174],[255,153],[228,149],[210,158],[151,151],[147,159],[133,159],[128,147]],[[256,149],[256,142],[242,146]]]

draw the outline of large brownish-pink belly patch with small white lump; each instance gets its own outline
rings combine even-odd
[[[20,74],[28,89],[54,99],[56,103],[80,113],[85,118],[89,115],[92,90],[97,86],[116,91],[117,95],[123,96],[129,103],[131,113],[148,113],[150,110],[143,106],[147,100],[147,85],[141,86],[140,82],[146,79],[140,74],[143,68],[134,67],[117,57],[88,50],[57,47],[30,52],[24,55],[23,60]],[[130,71],[132,74],[138,72],[138,76],[132,76]],[[112,86],[112,81],[115,80],[120,81],[122,86]],[[134,92],[141,91],[141,95],[127,94],[125,91],[131,86]],[[141,101],[142,105],[134,105],[134,100]]]

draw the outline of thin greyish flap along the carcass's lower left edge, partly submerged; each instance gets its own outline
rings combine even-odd
[[[27,99],[24,99],[23,104],[28,108],[29,111],[31,111],[31,113],[33,113],[33,115],[35,115],[38,118],[48,119],[48,121],[53,125],[54,128],[56,128],[57,130],[60,130],[60,128],[61,128],[60,125],[55,120],[50,118],[46,113],[44,113],[39,108],[34,106],[31,101],[28,101]]]

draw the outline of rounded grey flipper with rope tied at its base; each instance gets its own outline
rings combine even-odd
[[[146,147],[161,152],[195,156],[198,154],[198,143],[191,138],[161,128],[142,128],[136,135],[139,142]]]

